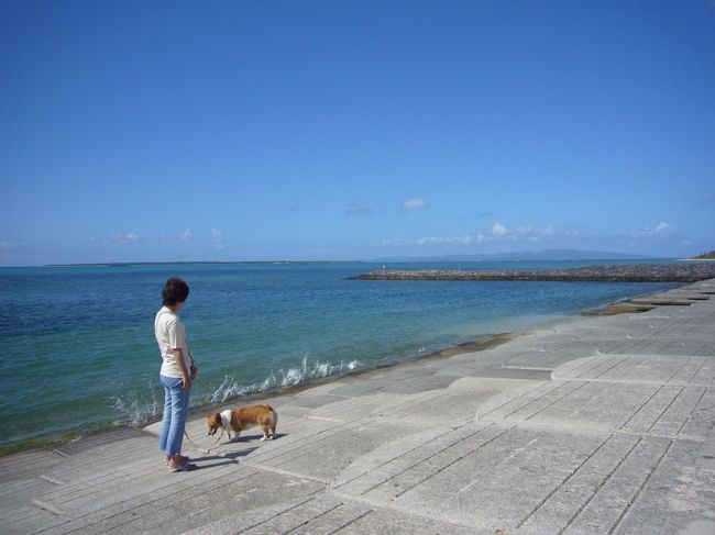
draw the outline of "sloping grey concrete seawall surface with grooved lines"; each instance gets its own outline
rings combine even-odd
[[[713,534],[715,279],[644,313],[270,400],[278,438],[116,430],[0,458],[2,533]]]

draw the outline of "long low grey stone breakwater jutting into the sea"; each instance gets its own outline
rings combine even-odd
[[[543,271],[378,269],[352,280],[532,280],[573,282],[695,282],[715,278],[715,264],[605,265]]]

